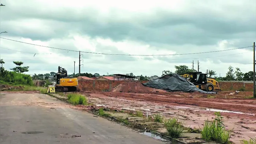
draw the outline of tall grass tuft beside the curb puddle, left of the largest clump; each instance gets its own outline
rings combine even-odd
[[[179,120],[178,116],[164,120],[164,127],[171,138],[179,138],[184,130],[183,122]]]

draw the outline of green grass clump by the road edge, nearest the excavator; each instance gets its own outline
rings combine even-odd
[[[68,94],[68,101],[74,105],[88,105],[87,98],[80,94]]]

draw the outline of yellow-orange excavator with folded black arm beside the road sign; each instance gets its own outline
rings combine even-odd
[[[68,72],[65,68],[58,66],[58,73],[54,76],[56,78],[55,91],[58,92],[79,92],[78,79],[68,77]]]

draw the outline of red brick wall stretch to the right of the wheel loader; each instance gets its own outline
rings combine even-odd
[[[220,88],[224,91],[227,90],[240,90],[241,88],[246,91],[253,91],[253,83],[244,82],[219,82]]]

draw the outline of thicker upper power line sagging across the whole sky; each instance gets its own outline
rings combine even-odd
[[[3,38],[3,37],[1,37]],[[70,49],[63,49],[63,48],[56,48],[56,47],[50,47],[50,46],[43,46],[43,45],[38,45],[38,44],[33,44],[33,43],[27,43],[27,42],[22,42],[22,41],[17,41],[17,40],[12,40],[8,38],[3,38],[11,41],[16,41],[16,42],[21,42],[21,43],[26,43],[26,44],[31,44],[31,45],[36,45],[36,46],[42,46],[42,47],[48,47],[48,48],[53,48],[53,49],[59,49],[59,50],[67,50],[67,51],[75,51],[79,52],[78,50],[70,50]],[[234,49],[242,49],[242,48],[248,48],[252,46],[246,46],[246,47],[240,47],[240,48],[233,48],[233,49],[225,49],[225,50],[216,50],[216,51],[207,51],[207,52],[196,52],[196,53],[180,53],[180,54],[151,54],[151,55],[141,55],[141,54],[113,54],[113,53],[98,53],[98,52],[87,52],[87,51],[81,51],[84,53],[92,53],[92,54],[105,54],[105,55],[128,55],[128,56],[167,56],[167,55],[188,55],[188,54],[200,54],[200,53],[210,53],[210,52],[220,52],[220,51],[228,51],[228,50],[234,50]]]

